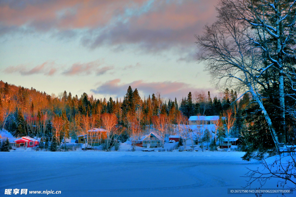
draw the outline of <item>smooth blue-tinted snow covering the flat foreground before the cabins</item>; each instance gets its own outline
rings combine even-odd
[[[0,196],[4,189],[23,188],[61,191],[58,196],[223,197],[227,188],[245,185],[246,178],[240,176],[247,172],[246,166],[258,166],[255,161],[242,161],[243,154],[0,152]],[[273,181],[265,188],[275,187]],[[41,194],[31,194],[36,195]]]

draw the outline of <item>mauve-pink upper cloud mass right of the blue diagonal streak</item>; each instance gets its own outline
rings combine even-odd
[[[91,49],[103,44],[136,44],[149,52],[193,47],[194,34],[202,33],[204,25],[215,20],[215,4],[216,0],[155,1],[147,12],[108,25],[97,33],[92,31],[83,37],[82,44]]]

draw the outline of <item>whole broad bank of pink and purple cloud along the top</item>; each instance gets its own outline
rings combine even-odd
[[[217,1],[13,1],[0,4],[5,26],[0,27],[0,34],[24,25],[39,31],[57,29],[54,35],[64,38],[76,35],[73,30],[89,29],[82,40],[89,48],[102,44],[137,44],[146,51],[195,47],[194,34],[202,33],[204,25],[215,20]]]

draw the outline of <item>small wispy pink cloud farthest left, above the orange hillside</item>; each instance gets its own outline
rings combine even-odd
[[[44,74],[52,76],[56,73],[57,69],[53,68],[54,62],[46,61],[43,64],[35,66],[32,69],[28,69],[26,65],[18,65],[18,66],[9,66],[4,72],[12,74],[12,73],[20,73],[21,75],[32,75],[32,74]]]

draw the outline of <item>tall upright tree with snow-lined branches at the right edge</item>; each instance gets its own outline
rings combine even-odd
[[[295,76],[293,67],[296,63],[296,1],[285,0],[222,0],[222,7],[235,10],[237,19],[247,22],[254,31],[248,34],[249,41],[254,47],[260,49],[264,57],[265,68],[260,73],[275,74],[276,81],[272,78],[266,80],[261,86],[268,89],[272,83],[278,83],[279,108],[281,111],[281,142],[285,143],[285,97],[296,100],[296,89],[292,88],[290,94],[285,94],[285,83],[293,87],[295,80],[285,81],[289,76]],[[291,69],[292,68],[292,69]],[[295,111],[295,108],[292,109]]]

